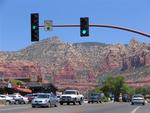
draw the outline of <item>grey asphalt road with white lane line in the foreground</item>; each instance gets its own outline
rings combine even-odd
[[[0,113],[150,113],[150,104],[104,103],[62,105],[52,108],[32,108],[31,105],[9,105],[0,108]]]

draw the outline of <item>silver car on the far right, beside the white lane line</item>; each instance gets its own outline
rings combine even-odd
[[[131,99],[131,105],[134,104],[143,104],[145,105],[145,99],[143,95],[137,94],[137,95],[133,95],[132,99]]]

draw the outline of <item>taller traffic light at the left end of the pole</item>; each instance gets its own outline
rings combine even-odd
[[[39,14],[31,14],[31,41],[39,41]]]

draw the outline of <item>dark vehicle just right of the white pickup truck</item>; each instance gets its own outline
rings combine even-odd
[[[88,103],[102,103],[101,101],[101,97],[100,94],[90,94],[90,96],[88,97]]]

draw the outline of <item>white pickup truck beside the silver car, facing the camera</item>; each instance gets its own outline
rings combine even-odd
[[[82,104],[84,96],[79,93],[78,90],[65,90],[64,93],[60,97],[60,105],[63,105],[63,103],[67,103],[69,105],[70,103],[73,103],[76,105],[76,103],[79,103],[79,105]]]

